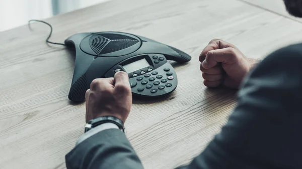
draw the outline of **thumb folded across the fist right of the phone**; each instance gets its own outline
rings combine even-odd
[[[211,50],[206,54],[204,61],[202,62],[202,67],[205,69],[212,68],[217,65],[217,63],[222,62],[225,64],[233,64],[238,61],[236,49],[234,48],[223,48]]]

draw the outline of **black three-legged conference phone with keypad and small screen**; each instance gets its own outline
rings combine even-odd
[[[79,33],[66,39],[65,45],[75,48],[76,55],[71,101],[84,101],[94,79],[114,77],[118,71],[128,74],[133,95],[167,95],[177,87],[176,72],[167,60],[191,60],[174,47],[122,32]]]

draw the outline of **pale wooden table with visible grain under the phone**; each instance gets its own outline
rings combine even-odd
[[[211,39],[231,42],[251,58],[300,41],[301,20],[288,17],[281,1],[261,2],[115,0],[46,21],[55,42],[75,33],[121,31],[192,56],[187,64],[173,63],[179,78],[173,94],[134,100],[125,124],[145,168],[172,168],[202,151],[236,105],[236,91],[203,86],[198,56]],[[1,169],[65,168],[64,155],[84,131],[85,104],[67,98],[74,53],[47,45],[47,26],[31,28],[0,33]]]

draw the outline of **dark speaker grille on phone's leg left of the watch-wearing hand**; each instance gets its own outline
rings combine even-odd
[[[73,85],[71,85],[68,98],[72,101],[84,101],[86,90],[87,79],[85,73]]]

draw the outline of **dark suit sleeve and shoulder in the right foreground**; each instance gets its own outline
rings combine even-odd
[[[302,167],[301,45],[265,58],[244,80],[221,132],[179,169]]]

